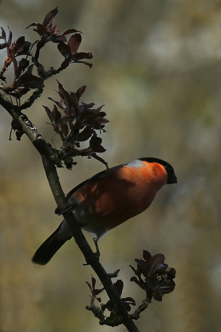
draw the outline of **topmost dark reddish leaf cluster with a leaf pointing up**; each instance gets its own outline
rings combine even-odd
[[[54,27],[52,26],[53,20],[57,14],[58,14],[58,7],[54,8],[49,13],[47,13],[42,24],[33,22],[32,24],[29,24],[29,26],[26,28],[28,29],[34,26],[37,27],[37,29],[33,30],[36,31],[38,35],[41,37],[41,40],[38,42],[39,48],[42,48],[48,41],[52,41],[55,43],[67,41],[65,35],[71,34],[73,32],[80,32],[76,29],[68,29],[62,34],[59,34],[60,30],[56,29],[56,26]]]

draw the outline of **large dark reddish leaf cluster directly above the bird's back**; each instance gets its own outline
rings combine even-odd
[[[94,103],[79,105],[79,99],[83,96],[86,86],[83,85],[76,92],[67,92],[63,85],[58,82],[58,94],[60,101],[52,100],[61,110],[64,111],[65,116],[62,117],[58,111],[56,105],[54,105],[53,111],[51,112],[48,107],[44,106],[51,124],[56,132],[62,133],[62,139],[72,140],[72,144],[76,147],[80,147],[80,142],[90,139],[89,147],[81,150],[81,154],[90,156],[94,152],[106,151],[101,145],[102,139],[97,137],[94,129],[103,129],[106,123],[109,121],[104,119],[106,113],[101,112],[100,106],[97,109],[92,109]],[[74,122],[74,123],[73,123]],[[69,127],[70,133],[69,133]],[[82,131],[80,131],[83,129]]]

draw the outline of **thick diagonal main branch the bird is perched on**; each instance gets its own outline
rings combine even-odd
[[[8,113],[13,117],[17,117],[17,120],[22,126],[22,130],[28,136],[34,147],[41,155],[43,167],[46,173],[48,183],[50,185],[55,202],[61,211],[68,209],[69,205],[65,199],[64,192],[62,190],[59,177],[55,166],[56,153],[55,150],[48,144],[44,138],[38,133],[35,126],[29,121],[28,117],[20,112],[19,106],[13,105],[7,98],[0,95],[0,105],[2,105]],[[96,258],[96,254],[93,253],[89,244],[87,243],[80,225],[75,219],[72,212],[64,212],[63,216],[68,223],[68,226],[74,236],[74,239],[82,251],[84,258],[92,269],[99,277],[102,285],[104,286],[111,302],[114,304],[115,312],[121,317],[119,319],[120,324],[124,324],[130,332],[139,332],[134,321],[129,318],[129,314],[121,301],[117,290],[112,284],[111,275],[109,275]]]

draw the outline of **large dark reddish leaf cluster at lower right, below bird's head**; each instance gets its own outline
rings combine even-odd
[[[135,272],[136,277],[132,277],[140,288],[146,291],[147,297],[151,296],[156,301],[162,301],[162,296],[171,293],[175,288],[176,271],[173,268],[168,269],[168,265],[164,263],[165,257],[162,254],[151,254],[143,250],[143,259],[135,259],[137,270],[130,265]],[[141,278],[144,276],[144,280]]]

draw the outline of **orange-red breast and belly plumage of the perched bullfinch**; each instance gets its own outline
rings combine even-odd
[[[139,168],[121,165],[112,170],[108,177],[88,183],[73,194],[108,229],[147,209],[167,182],[166,171],[158,163],[143,162]]]

